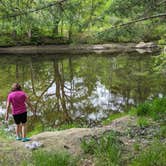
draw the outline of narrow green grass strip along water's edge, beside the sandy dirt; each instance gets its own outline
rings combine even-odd
[[[121,118],[121,117],[123,117],[123,116],[125,116],[127,114],[128,114],[128,112],[113,113],[107,119],[102,121],[102,125],[110,124],[113,120]]]

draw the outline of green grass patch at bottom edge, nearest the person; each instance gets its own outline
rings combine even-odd
[[[31,163],[31,164],[29,164]],[[22,166],[76,166],[77,159],[67,152],[34,151],[31,162],[23,161]]]

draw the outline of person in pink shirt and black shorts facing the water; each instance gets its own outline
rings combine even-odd
[[[14,83],[12,85],[12,90],[7,97],[5,120],[8,120],[10,106],[12,106],[12,115],[16,124],[16,140],[22,140],[23,142],[30,140],[26,137],[26,104],[30,106],[32,112],[35,114],[27,94],[22,91],[21,86],[18,83]]]

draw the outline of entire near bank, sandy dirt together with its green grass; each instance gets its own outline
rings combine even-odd
[[[93,128],[45,131],[29,142],[0,130],[0,165],[149,166],[166,163],[166,98],[107,118]],[[9,134],[9,133],[8,133]],[[4,137],[2,137],[4,136]],[[38,145],[31,148],[34,142]]]

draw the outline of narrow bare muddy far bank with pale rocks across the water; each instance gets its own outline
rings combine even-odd
[[[116,52],[152,52],[158,49],[153,43],[97,44],[97,45],[41,45],[14,46],[0,48],[0,54],[87,54],[87,53],[116,53]]]

